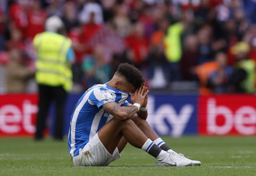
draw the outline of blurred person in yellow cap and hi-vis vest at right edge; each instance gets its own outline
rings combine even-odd
[[[255,90],[255,61],[248,58],[250,46],[238,42],[231,48],[236,56],[234,72],[230,77],[230,91],[234,93],[254,93]]]

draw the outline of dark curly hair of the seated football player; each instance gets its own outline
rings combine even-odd
[[[124,76],[125,79],[130,82],[134,88],[140,88],[140,86],[145,82],[140,70],[134,65],[123,63],[117,68],[117,73]]]

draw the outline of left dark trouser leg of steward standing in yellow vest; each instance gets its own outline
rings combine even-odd
[[[46,117],[48,114],[50,102],[52,99],[51,91],[49,86],[38,85],[39,89],[39,102],[38,102],[38,113],[36,117],[36,134],[35,139],[40,140],[43,138],[43,131],[46,125]]]

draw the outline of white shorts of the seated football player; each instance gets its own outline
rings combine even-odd
[[[96,133],[83,149],[79,149],[79,155],[72,159],[75,166],[104,166],[120,157],[117,147],[111,155]]]

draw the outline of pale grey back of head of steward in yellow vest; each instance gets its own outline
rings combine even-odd
[[[63,27],[63,22],[57,15],[51,16],[45,21],[45,30],[50,32],[57,32]]]

